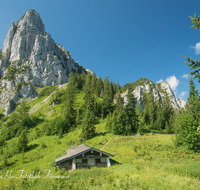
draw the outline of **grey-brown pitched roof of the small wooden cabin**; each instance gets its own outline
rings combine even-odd
[[[68,160],[68,159],[70,159],[70,158],[72,158],[72,157],[75,157],[75,156],[79,156],[80,154],[83,154],[83,153],[88,152],[88,151],[90,151],[90,150],[95,150],[95,151],[101,152],[101,153],[103,153],[103,154],[105,154],[105,155],[107,155],[107,156],[112,156],[112,157],[114,157],[112,154],[109,154],[109,153],[104,152],[104,151],[102,151],[102,150],[99,150],[99,149],[90,147],[90,146],[85,145],[85,144],[80,144],[80,145],[78,145],[78,146],[75,146],[75,147],[73,147],[73,148],[68,149],[66,155],[61,156],[61,157],[59,157],[59,158],[56,158],[56,159],[55,159],[55,163],[63,162],[63,161],[65,161],[65,160]]]

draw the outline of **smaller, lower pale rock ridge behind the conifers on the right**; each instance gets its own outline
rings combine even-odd
[[[181,107],[185,108],[186,101],[180,100],[179,98],[176,98],[174,95],[173,90],[171,89],[171,86],[167,82],[161,82],[158,84],[153,83],[149,79],[138,79],[135,84],[132,84],[134,87],[133,96],[137,99],[137,102],[140,104],[140,107],[144,110],[144,103],[143,103],[143,92],[148,93],[149,91],[153,92],[154,100],[159,100],[162,103],[162,98],[165,95],[164,91],[167,92],[167,94],[170,97],[171,104],[175,110],[179,110]],[[126,103],[128,91],[125,93],[122,93],[121,96],[124,99],[124,102]]]

